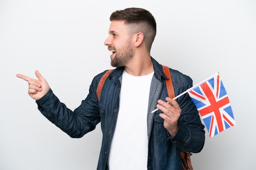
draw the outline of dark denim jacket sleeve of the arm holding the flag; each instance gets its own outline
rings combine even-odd
[[[192,87],[192,79],[186,76],[186,81],[174,84],[175,96]],[[182,109],[179,122],[179,129],[174,137],[169,136],[171,142],[180,150],[192,153],[199,153],[204,146],[205,131],[197,108],[189,94],[186,93],[176,99]]]

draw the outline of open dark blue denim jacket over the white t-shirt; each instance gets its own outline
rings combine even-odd
[[[150,113],[156,108],[157,100],[165,101],[168,96],[165,83],[167,77],[163,72],[162,65],[153,58],[152,61],[155,73],[150,86],[147,113],[148,170],[182,170],[179,150],[192,153],[200,152],[204,146],[204,125],[200,120],[198,110],[187,93],[176,99],[182,112],[178,120],[179,129],[174,137],[171,137],[164,128],[164,120],[159,116],[162,111]],[[110,142],[115,133],[123,70],[124,67],[120,67],[111,72],[103,86],[100,101],[98,101],[96,90],[106,71],[95,76],[90,85],[88,96],[74,111],[61,103],[51,89],[45,96],[36,101],[40,112],[70,137],[83,137],[101,122],[103,138],[97,170],[108,170],[107,157]],[[175,96],[192,87],[192,80],[189,76],[177,70],[170,69],[170,71]]]

